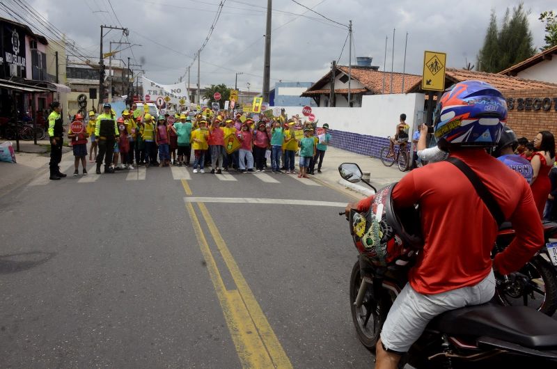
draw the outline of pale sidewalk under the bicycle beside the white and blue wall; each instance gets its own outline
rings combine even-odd
[[[296,159],[298,159],[298,157],[296,157]],[[340,178],[338,166],[343,163],[356,163],[360,166],[364,173],[369,172],[370,182],[377,189],[389,185],[392,182],[398,182],[406,173],[408,173],[399,171],[397,166],[384,166],[379,159],[329,146],[323,159],[323,166],[321,168],[322,173],[317,173],[317,165],[315,165],[315,175],[310,175],[309,177],[315,178],[315,180],[321,180],[327,185],[336,188],[349,188],[350,190],[355,191],[359,197],[369,196],[372,194],[373,190],[365,183],[359,182],[352,184]]]

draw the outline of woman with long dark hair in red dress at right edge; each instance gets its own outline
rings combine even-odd
[[[534,148],[536,152],[531,159],[534,176],[530,185],[534,196],[535,206],[538,208],[540,219],[543,217],[547,196],[551,191],[549,171],[555,162],[555,137],[549,131],[542,131],[535,136]]]

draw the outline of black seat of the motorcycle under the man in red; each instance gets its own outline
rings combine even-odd
[[[488,336],[529,348],[557,348],[557,321],[526,306],[466,306],[435,317],[427,328],[455,336]]]

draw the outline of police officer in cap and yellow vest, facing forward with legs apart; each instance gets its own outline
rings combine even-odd
[[[100,165],[104,157],[104,173],[114,173],[111,167],[112,156],[114,151],[114,143],[120,136],[116,119],[111,112],[110,104],[104,104],[103,113],[97,117],[97,125],[95,127],[95,137],[98,141],[99,155],[97,155],[97,174],[100,174]]]

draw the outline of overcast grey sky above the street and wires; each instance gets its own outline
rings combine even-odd
[[[12,3],[6,0],[3,3]],[[219,8],[219,0],[26,0],[59,30],[74,40],[84,54],[98,60],[100,25],[130,29],[136,64],[143,64],[146,77],[161,84],[173,84],[185,75],[194,54],[201,47]],[[402,72],[405,36],[408,33],[406,71],[421,74],[425,49],[447,53],[449,67],[462,68],[466,59],[476,63],[492,8],[499,20],[507,6],[518,1],[503,0],[297,0],[340,24],[352,19],[355,56],[371,56],[383,69],[385,37],[386,70],[391,70],[393,28],[395,31],[394,70]],[[555,1],[530,0],[530,27],[535,47],[544,45],[544,10],[557,10]],[[111,10],[115,10],[118,20]],[[251,91],[262,87],[266,22],[265,0],[226,0],[214,32],[201,52],[201,84],[223,83]],[[15,5],[10,6],[21,13]],[[271,86],[282,81],[317,81],[338,59],[347,38],[347,29],[312,13],[292,0],[274,0],[272,8]],[[2,12],[0,12],[2,13]],[[298,16],[302,14],[303,16]],[[6,16],[6,13],[2,13]],[[313,19],[310,19],[311,17]],[[44,33],[43,33],[44,34]],[[51,36],[46,33],[45,36]],[[120,41],[120,31],[104,37]],[[125,46],[123,46],[125,47]],[[127,62],[129,50],[120,56]],[[191,56],[191,57],[189,57]],[[354,59],[355,60],[355,59]],[[346,44],[340,64],[347,64]],[[132,63],[133,56],[132,56]],[[185,77],[187,79],[187,77]],[[197,61],[191,68],[191,85],[197,79]]]

